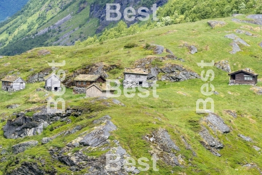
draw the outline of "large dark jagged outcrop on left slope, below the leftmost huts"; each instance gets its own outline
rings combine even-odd
[[[59,121],[61,118],[67,116],[80,116],[82,111],[79,109],[73,109],[68,107],[66,112],[63,113],[61,110],[47,110],[46,106],[35,108],[41,110],[33,114],[33,117],[27,117],[26,112],[20,112],[16,115],[15,120],[8,120],[5,124],[3,131],[4,137],[7,139],[24,138],[26,136],[34,136],[41,134],[43,129],[49,125],[50,122]],[[29,109],[31,111],[33,109]]]

